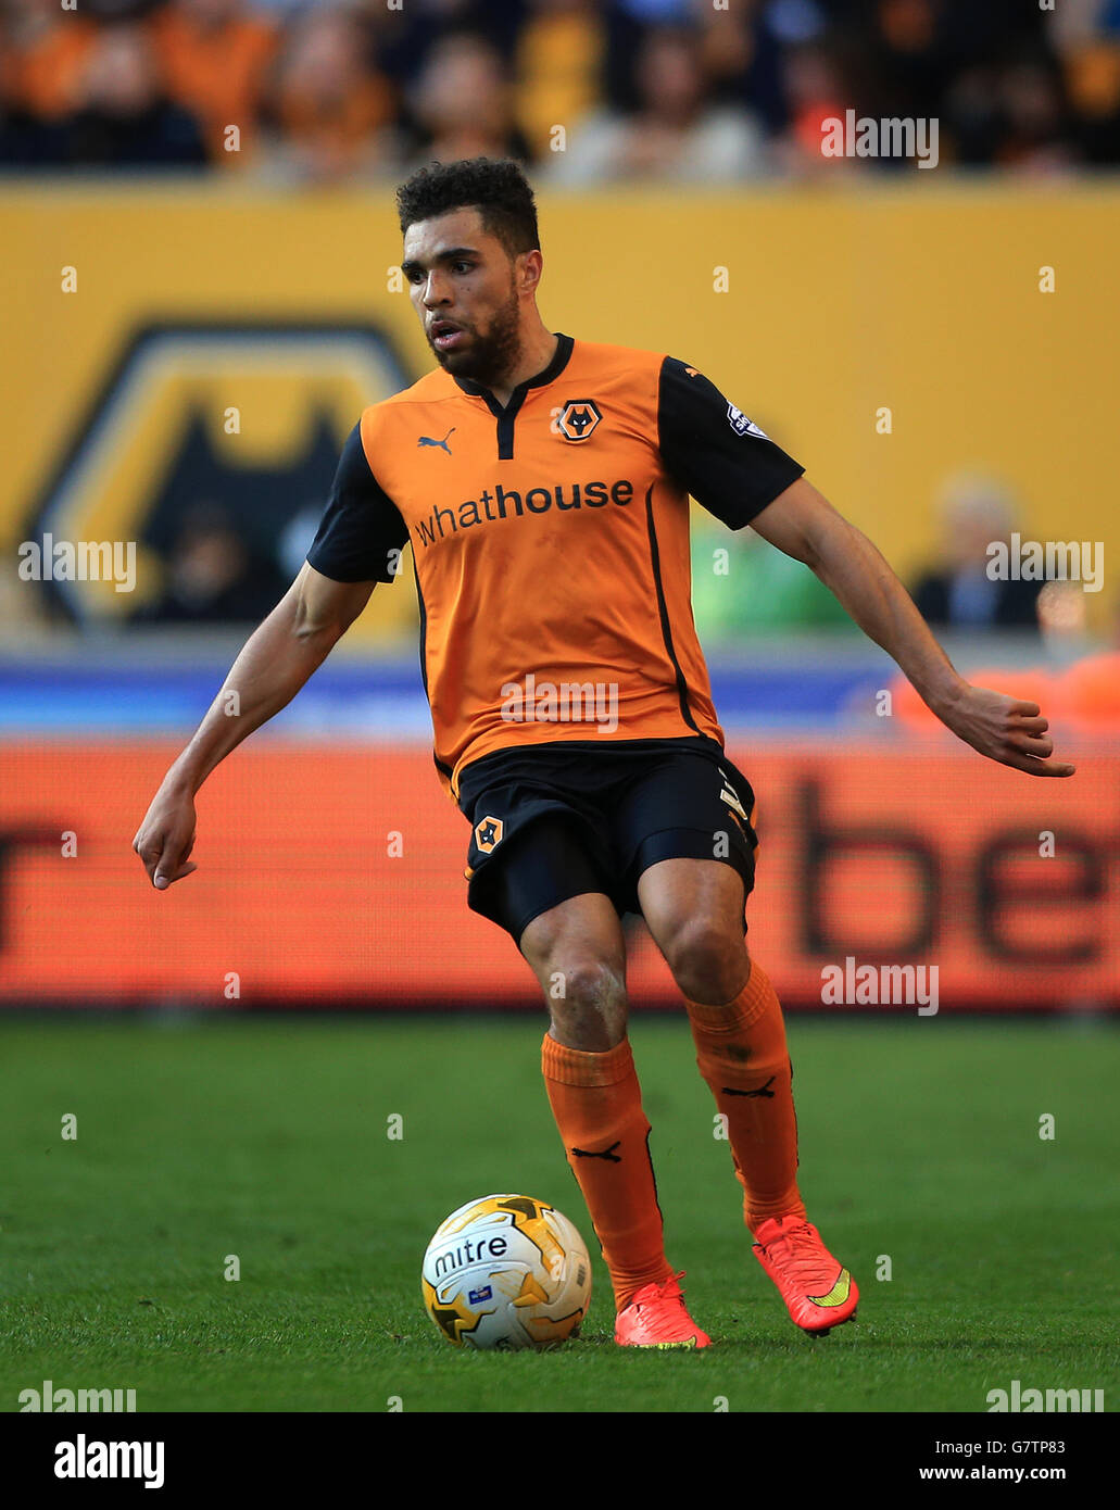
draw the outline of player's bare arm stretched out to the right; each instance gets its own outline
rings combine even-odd
[[[752,525],[771,545],[812,568],[966,744],[1031,776],[1073,775],[1075,766],[1048,758],[1054,741],[1038,705],[965,681],[883,554],[805,477],[762,509]]]

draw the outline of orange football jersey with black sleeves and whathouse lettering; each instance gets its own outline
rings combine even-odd
[[[688,497],[749,524],[803,468],[694,367],[557,337],[503,408],[438,368],[362,412],[308,560],[391,581],[411,541],[435,761],[580,738],[723,743]]]

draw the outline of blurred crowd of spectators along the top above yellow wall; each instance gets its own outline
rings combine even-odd
[[[0,166],[290,181],[516,157],[543,181],[1120,163],[1120,0],[0,0]]]

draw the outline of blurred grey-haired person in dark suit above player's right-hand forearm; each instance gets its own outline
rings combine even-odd
[[[948,630],[1038,630],[1040,581],[989,577],[989,547],[1010,544],[1014,498],[1005,486],[980,474],[949,479],[939,500],[943,554],[913,587],[927,624]]]

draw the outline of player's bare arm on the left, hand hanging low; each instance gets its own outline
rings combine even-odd
[[[198,788],[229,750],[291,702],[370,601],[373,587],[371,581],[332,581],[305,563],[254,630],[133,840],[157,891],[198,868],[190,861]]]

